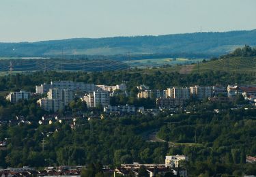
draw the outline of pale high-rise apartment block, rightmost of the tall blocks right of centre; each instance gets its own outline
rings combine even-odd
[[[212,86],[190,86],[190,94],[193,98],[199,100],[212,97]]]

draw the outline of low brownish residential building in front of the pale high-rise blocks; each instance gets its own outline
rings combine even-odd
[[[175,98],[157,98],[156,105],[161,108],[175,108],[182,107],[185,103],[184,99],[175,99]]]

